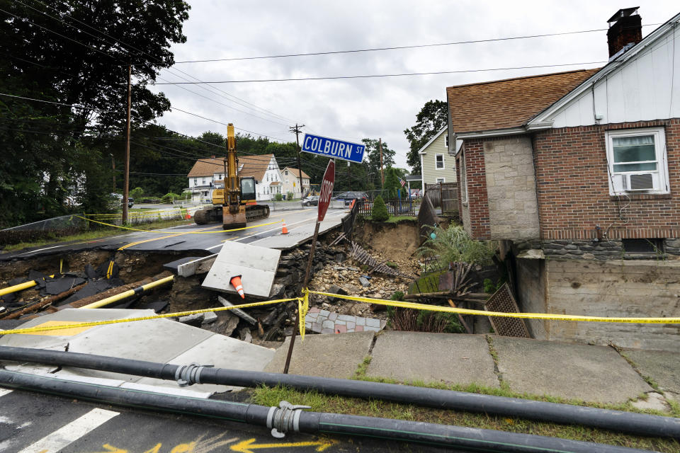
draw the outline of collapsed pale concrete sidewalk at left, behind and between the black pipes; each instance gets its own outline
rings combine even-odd
[[[75,321],[98,321],[99,319],[123,319],[137,316],[152,315],[152,310],[115,310],[115,309],[67,309],[55,314],[45,315],[40,320],[44,323]],[[22,327],[23,327],[22,326]],[[63,344],[50,345],[43,341],[44,338],[56,338]],[[271,361],[275,351],[262,348],[235,338],[229,338],[200,328],[187,326],[169,319],[151,319],[148,321],[135,321],[132,323],[116,323],[104,326],[94,326],[86,330],[74,332],[71,336],[4,336],[0,338],[0,344],[14,343],[21,340],[19,345],[25,348],[55,348],[64,350],[69,346],[70,352],[82,352],[86,354],[106,355],[109,357],[123,357],[132,360],[149,360],[151,362],[172,363],[175,365],[215,365],[216,367],[247,369],[261,371]],[[169,394],[178,393],[179,387],[174,381],[160,379],[147,379],[127,374],[101,372],[93,369],[79,369],[64,367],[55,372],[55,367],[42,367],[40,365],[9,364],[13,369],[33,374],[53,373],[52,376],[62,379],[72,379],[84,382],[99,382],[97,379],[106,379],[107,385],[128,386],[126,384],[138,384],[129,386],[137,389],[152,389]],[[55,373],[54,373],[55,372]],[[191,386],[191,395],[207,398],[215,391],[227,391],[234,387],[196,384]]]

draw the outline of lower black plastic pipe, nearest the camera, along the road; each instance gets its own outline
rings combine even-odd
[[[460,426],[436,425],[434,423],[392,420],[390,418],[360,417],[335,413],[295,411],[285,413],[280,408],[268,408],[256,404],[216,401],[157,394],[148,391],[130,391],[119,387],[73,382],[55,377],[10,372],[0,369],[0,385],[22,390],[41,391],[62,396],[72,396],[90,401],[101,401],[122,406],[133,406],[221,418],[241,423],[271,427],[271,419],[283,413],[282,420],[293,425],[297,415],[296,431],[379,437],[387,440],[421,442],[449,448],[463,448],[475,452],[502,453],[641,453],[643,450],[614,445],[579,442],[526,435],[516,432],[482,430]],[[288,419],[285,417],[290,415]]]

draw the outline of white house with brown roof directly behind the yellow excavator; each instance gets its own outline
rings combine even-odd
[[[283,176],[278,169],[276,157],[273,154],[261,156],[239,157],[239,177],[253,176],[255,178],[255,193],[258,201],[273,200],[277,193],[282,193],[281,182]],[[210,157],[198,159],[193,164],[188,177],[188,190],[192,193],[192,200],[196,202],[210,202],[215,184],[222,184],[225,178],[225,163],[223,158]]]

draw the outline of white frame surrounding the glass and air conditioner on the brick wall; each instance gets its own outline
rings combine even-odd
[[[614,171],[613,159],[613,139],[616,137],[637,137],[639,135],[652,135],[654,137],[654,149],[657,162],[657,169],[655,171]],[[663,127],[645,127],[644,129],[623,129],[610,130],[605,132],[605,142],[607,149],[607,166],[608,166],[608,185],[609,195],[635,195],[635,193],[670,193],[670,185],[668,178],[668,159],[666,152],[666,134]],[[655,180],[655,189],[653,190],[623,190],[624,175],[652,173]]]

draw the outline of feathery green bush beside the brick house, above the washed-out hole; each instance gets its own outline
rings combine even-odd
[[[463,226],[450,225],[448,229],[438,226],[430,227],[431,236],[418,251],[421,256],[438,256],[443,268],[448,263],[489,265],[496,253],[496,243],[492,241],[474,241],[467,235]],[[432,234],[434,237],[432,237]]]

